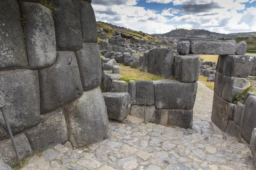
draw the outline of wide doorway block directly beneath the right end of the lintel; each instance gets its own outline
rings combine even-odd
[[[253,55],[220,55],[216,69],[229,77],[247,78],[253,67],[253,57]]]

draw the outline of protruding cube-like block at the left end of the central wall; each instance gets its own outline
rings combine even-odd
[[[131,99],[128,93],[104,93],[103,94],[108,118],[123,121],[131,109]]]

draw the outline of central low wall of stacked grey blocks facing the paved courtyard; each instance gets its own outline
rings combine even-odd
[[[163,77],[175,77],[177,80],[137,81],[129,83],[120,81],[123,78],[119,74],[111,74],[111,71],[103,71],[102,78],[105,92],[103,94],[108,108],[108,116],[111,119],[125,117],[128,105],[131,104],[132,116],[144,119],[144,105],[146,105],[146,121],[161,125],[180,126],[192,128],[193,107],[197,93],[197,80],[200,60],[198,55],[174,56],[173,48],[155,48],[146,52],[141,59],[141,69],[161,75]],[[116,105],[107,102],[111,94],[127,93],[120,108],[125,116],[116,116],[116,110],[109,107]],[[116,96],[117,94],[115,94]],[[120,94],[121,95],[121,94]],[[146,96],[146,101],[145,101]],[[130,102],[127,100],[130,99]],[[110,100],[109,100],[110,101]],[[119,110],[120,111],[120,110]],[[122,113],[122,112],[119,112]]]

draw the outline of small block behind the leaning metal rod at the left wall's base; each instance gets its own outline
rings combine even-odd
[[[20,133],[14,136],[14,140],[17,146],[17,150],[20,154],[20,159],[32,156],[32,149],[24,133]],[[18,163],[17,156],[13,148],[11,139],[5,139],[1,141],[0,160],[2,160],[5,164],[9,164],[10,166]]]

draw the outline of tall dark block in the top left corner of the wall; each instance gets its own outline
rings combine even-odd
[[[0,1],[0,18],[0,71],[29,68],[17,0]]]

